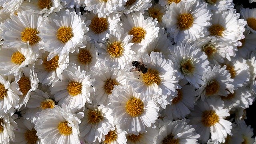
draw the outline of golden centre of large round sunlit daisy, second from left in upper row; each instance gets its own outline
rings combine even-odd
[[[57,38],[62,43],[68,42],[73,36],[74,34],[72,32],[72,28],[70,27],[62,26],[57,31]]]

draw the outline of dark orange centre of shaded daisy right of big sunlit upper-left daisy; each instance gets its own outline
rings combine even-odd
[[[106,18],[98,18],[96,16],[92,19],[89,27],[95,34],[100,34],[108,29],[108,20]]]

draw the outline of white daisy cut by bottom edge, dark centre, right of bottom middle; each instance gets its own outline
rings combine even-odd
[[[153,144],[198,144],[200,135],[188,122],[186,119],[166,122],[154,137]]]

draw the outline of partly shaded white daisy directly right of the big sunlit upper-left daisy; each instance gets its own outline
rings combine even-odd
[[[87,35],[90,36],[93,42],[106,42],[107,38],[109,38],[110,31],[114,30],[120,21],[119,14],[110,14],[106,18],[99,18],[95,14],[88,12],[83,17],[91,21],[88,24],[89,31]]]

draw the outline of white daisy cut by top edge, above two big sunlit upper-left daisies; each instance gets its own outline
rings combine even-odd
[[[27,13],[32,14],[44,14],[44,17],[47,17],[53,12],[59,12],[62,9],[62,4],[60,0],[30,0],[24,1],[21,8],[27,10]]]

